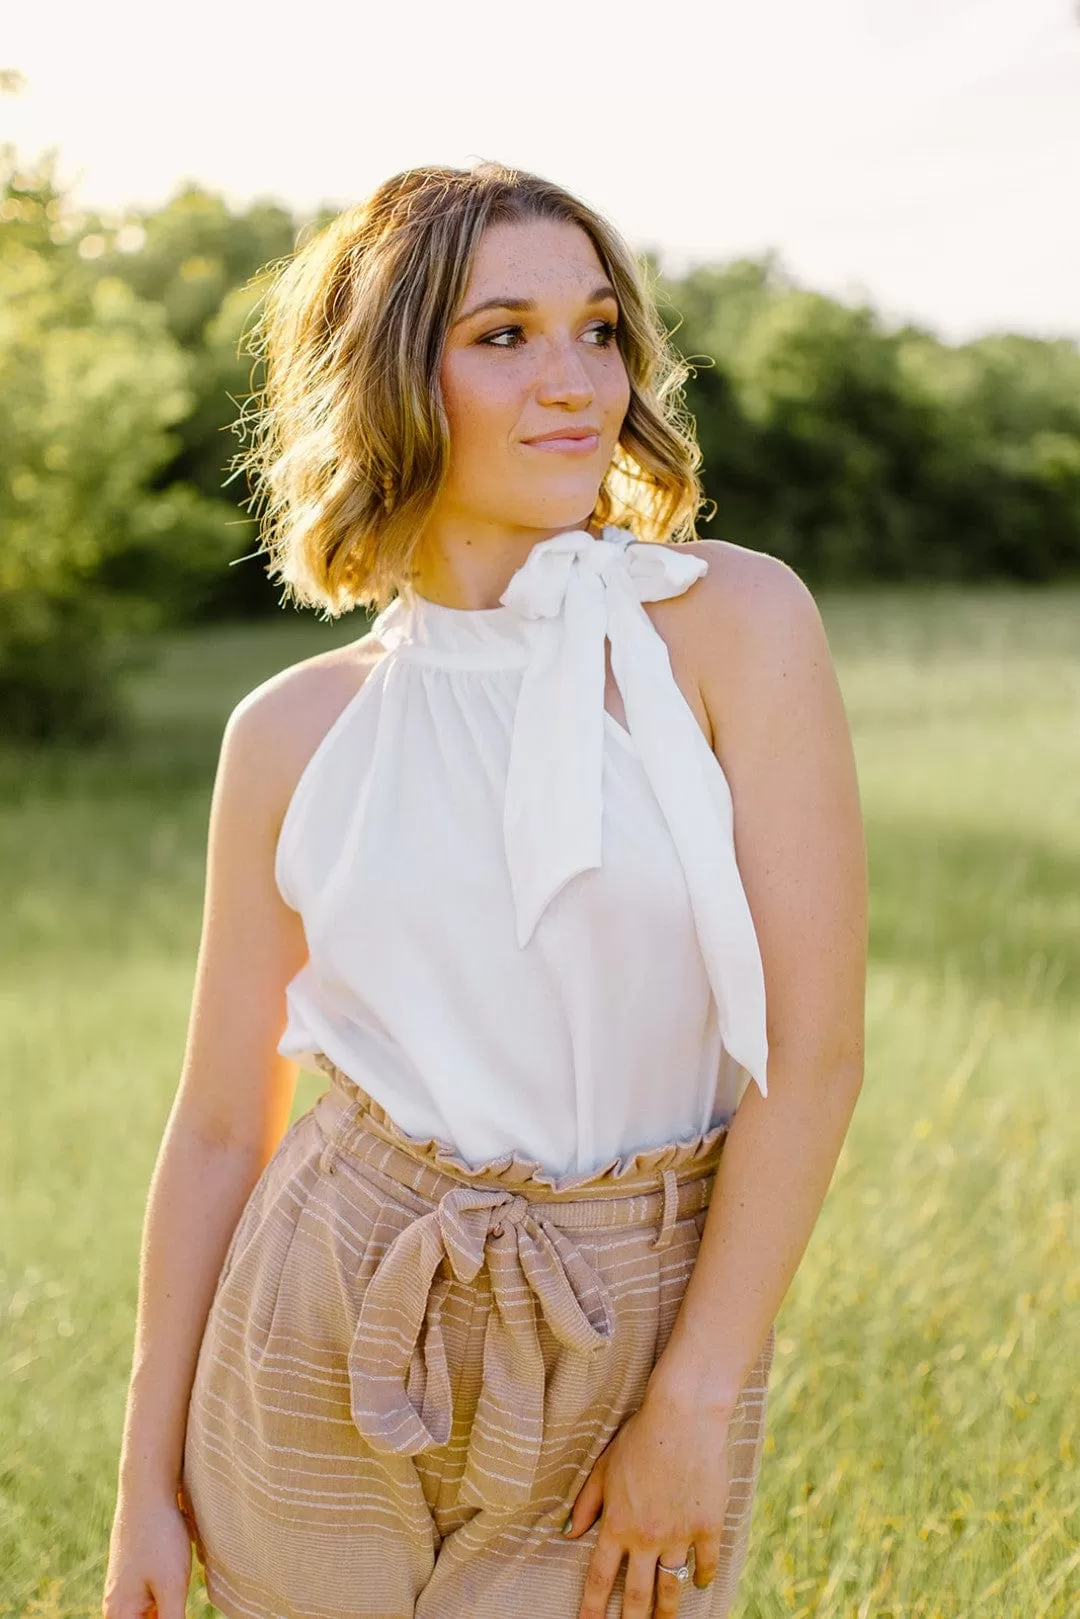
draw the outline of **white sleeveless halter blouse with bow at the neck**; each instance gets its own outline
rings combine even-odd
[[[308,761],[275,879],[309,958],[282,1056],[325,1054],[471,1164],[593,1172],[766,1094],[732,797],[643,601],[708,563],[609,526],[492,609],[410,586]],[[604,708],[604,640],[623,729]]]

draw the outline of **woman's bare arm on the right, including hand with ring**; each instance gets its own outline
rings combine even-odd
[[[709,562],[691,591],[664,604],[662,622],[735,801],[766,978],[769,1094],[751,1081],[740,1098],[667,1344],[640,1409],[573,1502],[576,1538],[599,1517],[573,1619],[602,1619],[623,1554],[625,1590],[641,1593],[641,1604],[630,1596],[635,1614],[649,1606],[657,1553],[675,1567],[693,1548],[695,1583],[716,1577],[732,1485],[750,1477],[748,1454],[725,1443],[738,1396],[818,1219],[863,1078],[866,856],[816,602],[774,557],[719,541],[678,549]],[[674,1613],[657,1598],[661,1608]]]

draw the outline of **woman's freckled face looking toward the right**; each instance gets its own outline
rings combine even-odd
[[[630,403],[617,321],[578,225],[534,219],[484,232],[440,369],[450,471],[437,526],[559,533],[588,523]],[[529,442],[585,429],[591,437],[575,453],[565,440]]]

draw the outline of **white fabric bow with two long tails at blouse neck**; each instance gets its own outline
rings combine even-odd
[[[518,945],[578,873],[601,865],[604,640],[627,730],[670,829],[724,1046],[766,1094],[764,971],[735,861],[727,777],[641,602],[682,596],[708,562],[609,526],[533,547],[500,601],[547,618],[521,678],[504,810]]]

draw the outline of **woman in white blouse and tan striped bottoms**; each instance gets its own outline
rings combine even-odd
[[[379,614],[225,729],[104,1611],[194,1541],[233,1619],[722,1619],[861,1085],[813,597],[678,542],[685,372],[546,180],[393,176],[261,351],[272,570]]]

